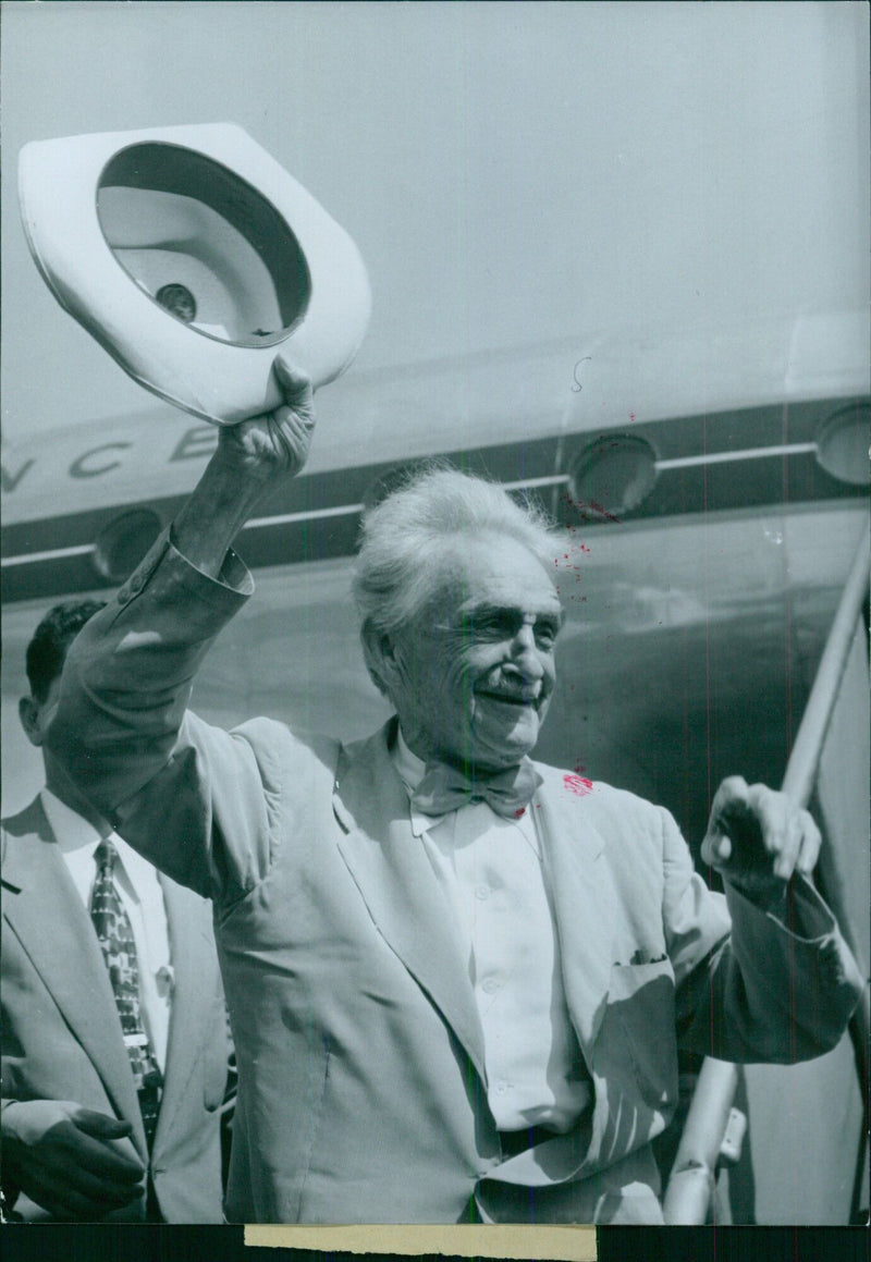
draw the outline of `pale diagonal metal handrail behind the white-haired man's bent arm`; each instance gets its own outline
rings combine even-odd
[[[786,771],[783,779],[785,793],[797,806],[807,806],[813,793],[819,758],[838,695],[856,626],[862,616],[868,593],[868,567],[871,541],[866,525],[844,584],[838,608],[832,622],[817,675],[804,707],[804,714],[795,734]],[[827,890],[844,938],[856,953],[857,943],[850,923],[843,915],[843,900],[837,888]],[[866,962],[860,960],[860,967]],[[866,976],[866,974],[863,974]],[[851,1035],[856,1045],[862,1100],[868,1112],[867,1058],[871,1006],[868,988],[851,1022]],[[693,1099],[684,1123],[680,1143],[674,1157],[672,1175],[663,1200],[663,1215],[668,1224],[703,1224],[713,1193],[717,1162],[728,1124],[735,1093],[738,1084],[737,1065],[714,1056],[706,1056],[696,1084]],[[867,1126],[863,1127],[863,1137]]]

